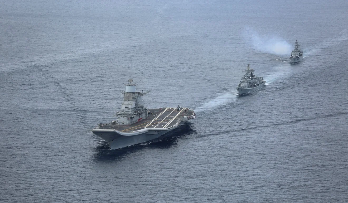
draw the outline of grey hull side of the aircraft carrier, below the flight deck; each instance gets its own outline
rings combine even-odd
[[[136,135],[121,135],[116,130],[93,130],[93,133],[108,142],[111,149],[120,149],[156,139],[171,132],[184,123],[185,122],[180,122],[180,125],[167,130],[160,130],[163,128],[153,128],[154,130],[149,130],[148,132]]]

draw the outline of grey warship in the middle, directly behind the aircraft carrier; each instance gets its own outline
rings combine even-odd
[[[242,77],[242,80],[240,80],[240,83],[238,84],[238,95],[249,94],[258,91],[266,83],[266,81],[263,80],[263,77],[256,77],[253,74],[254,69],[250,69],[249,66],[250,64],[248,64],[248,67],[245,70],[245,74]]]

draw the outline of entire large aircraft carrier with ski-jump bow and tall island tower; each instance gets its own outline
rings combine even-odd
[[[122,90],[121,110],[115,113],[116,120],[100,123],[92,132],[109,143],[111,149],[119,149],[150,141],[164,135],[190,119],[196,113],[190,108],[148,109],[142,96],[149,91],[136,92],[133,79],[128,79],[126,89]]]

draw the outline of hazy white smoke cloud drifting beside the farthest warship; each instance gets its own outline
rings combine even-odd
[[[253,29],[244,29],[243,36],[256,50],[270,54],[289,55],[292,46],[277,36],[261,36]]]

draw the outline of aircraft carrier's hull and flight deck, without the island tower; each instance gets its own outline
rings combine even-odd
[[[92,132],[108,142],[111,149],[119,149],[156,139],[196,118],[193,110],[180,107],[148,109],[148,114],[148,118],[132,125],[99,124]]]

